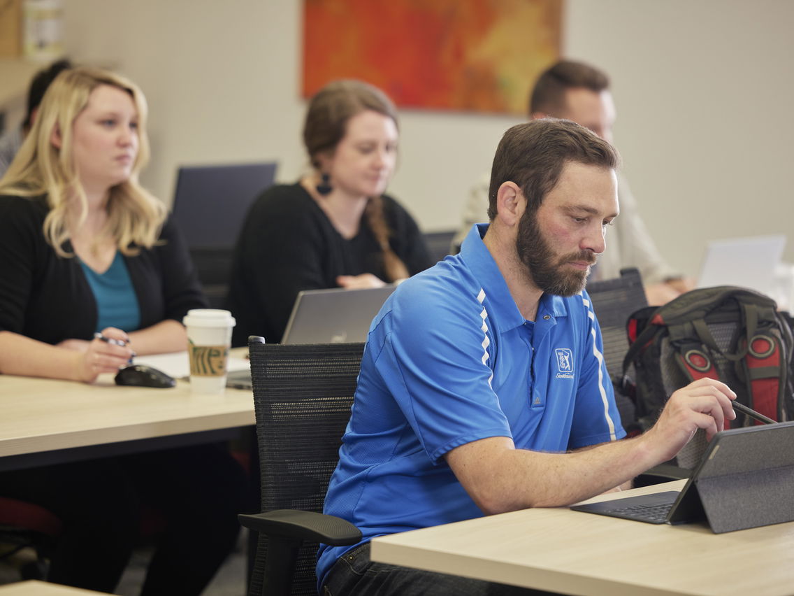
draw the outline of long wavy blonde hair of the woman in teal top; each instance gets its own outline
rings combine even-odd
[[[67,214],[77,202],[78,225],[88,215],[88,199],[80,184],[72,156],[75,118],[88,105],[91,91],[100,85],[117,87],[133,99],[137,110],[138,153],[127,180],[110,188],[107,230],[121,253],[132,256],[140,247],[151,248],[167,215],[164,204],[138,183],[138,172],[148,162],[146,99],[135,83],[99,68],[70,68],[48,87],[19,153],[0,180],[0,194],[35,197],[47,195],[49,212],[44,219],[44,238],[61,257],[74,256],[64,249],[70,238]],[[60,149],[52,135],[60,134]]]

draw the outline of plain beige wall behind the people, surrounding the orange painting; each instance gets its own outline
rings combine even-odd
[[[374,1],[374,0],[373,0]],[[306,164],[299,0],[69,0],[66,46],[143,87],[170,202],[179,164]],[[607,70],[624,168],[653,238],[696,273],[709,238],[788,232],[794,2],[567,0],[564,54]],[[469,184],[521,118],[403,110],[391,192],[425,230],[457,226]],[[787,249],[794,260],[794,234]]]

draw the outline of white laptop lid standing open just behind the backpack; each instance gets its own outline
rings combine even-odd
[[[783,234],[711,241],[703,257],[697,286],[737,285],[772,296],[775,269],[781,262],[785,245]]]

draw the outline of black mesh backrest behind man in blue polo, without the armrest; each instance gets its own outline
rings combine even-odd
[[[261,470],[261,509],[322,511],[350,419],[363,343],[281,345],[249,339]],[[260,594],[260,536],[250,594]],[[317,544],[298,555],[291,594],[317,594]]]

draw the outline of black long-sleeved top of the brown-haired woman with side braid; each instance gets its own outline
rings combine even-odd
[[[414,219],[383,197],[390,245],[414,275],[432,265]],[[336,288],[339,275],[372,273],[386,280],[383,253],[367,219],[346,240],[300,184],[268,188],[252,205],[237,240],[229,310],[237,319],[232,345],[249,335],[278,343],[301,290]]]

